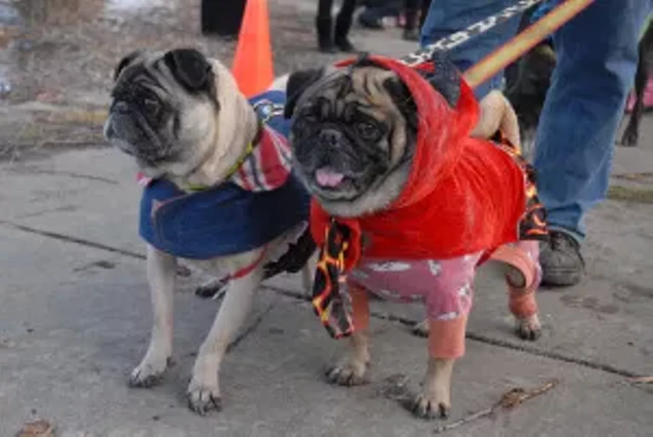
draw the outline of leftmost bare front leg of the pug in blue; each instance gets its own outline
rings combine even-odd
[[[150,346],[133,370],[131,387],[151,387],[161,380],[172,355],[172,294],[177,259],[151,245],[147,249],[148,283],[152,299],[153,324]]]

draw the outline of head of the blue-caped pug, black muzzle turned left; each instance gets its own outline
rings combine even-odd
[[[219,112],[204,55],[134,52],[121,59],[114,78],[104,136],[150,175],[197,164],[203,144],[215,136]]]

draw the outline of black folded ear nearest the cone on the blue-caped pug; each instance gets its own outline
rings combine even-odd
[[[208,59],[193,48],[170,50],[163,56],[163,62],[170,68],[172,76],[189,93],[212,91],[213,72]]]

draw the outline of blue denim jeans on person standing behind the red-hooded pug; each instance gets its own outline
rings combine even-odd
[[[422,44],[498,12],[509,1],[434,1]],[[550,228],[582,240],[584,214],[605,198],[614,137],[637,69],[637,42],[650,0],[597,0],[558,30],[558,64],[537,128],[535,168]],[[465,70],[515,34],[517,20],[454,49]],[[498,76],[475,90],[499,88]]]

